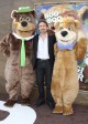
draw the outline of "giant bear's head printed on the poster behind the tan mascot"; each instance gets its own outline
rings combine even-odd
[[[40,18],[46,19],[50,29],[52,30],[54,30],[54,23],[61,21],[61,19],[65,17],[73,17],[75,20],[78,20],[80,22],[77,40],[79,40],[81,37],[87,38],[87,28],[85,28],[85,23],[87,23],[88,25],[88,7],[84,6],[81,9],[75,10],[70,6],[58,4],[52,7],[48,10],[42,10],[40,16]]]

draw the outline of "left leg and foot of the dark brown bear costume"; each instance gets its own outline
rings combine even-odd
[[[6,106],[13,106],[18,100],[20,90],[20,75],[16,65],[12,65],[10,61],[6,65],[6,90],[9,94],[9,100],[4,103]]]

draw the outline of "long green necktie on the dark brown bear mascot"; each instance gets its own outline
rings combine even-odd
[[[24,45],[24,38],[22,38],[22,44],[21,44],[21,66],[25,66],[25,45]]]

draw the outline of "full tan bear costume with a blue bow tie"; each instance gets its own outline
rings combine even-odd
[[[56,104],[53,113],[73,114],[72,105],[79,90],[77,60],[84,59],[87,46],[87,39],[77,41],[78,27],[79,21],[70,17],[55,23],[57,43],[51,92]]]

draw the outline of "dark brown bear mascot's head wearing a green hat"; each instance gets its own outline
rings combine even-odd
[[[20,37],[30,37],[35,31],[36,13],[30,7],[22,7],[11,12],[12,29]]]

